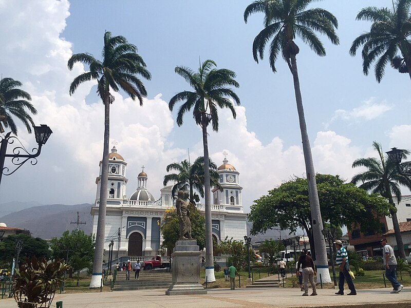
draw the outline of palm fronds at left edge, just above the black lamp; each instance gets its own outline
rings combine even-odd
[[[37,114],[37,110],[29,102],[31,101],[30,94],[17,88],[22,85],[20,81],[12,78],[4,78],[0,81],[0,133],[4,132],[3,122],[4,126],[10,127],[11,132],[17,136],[17,126],[11,114],[22,121],[28,133],[31,133],[31,126],[34,126],[34,122],[25,108],[32,114]]]

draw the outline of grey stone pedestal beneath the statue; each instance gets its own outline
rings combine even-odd
[[[200,284],[200,256],[196,240],[178,240],[171,254],[173,284],[165,295],[207,294]]]

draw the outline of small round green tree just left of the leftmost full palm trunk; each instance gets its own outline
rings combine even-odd
[[[79,285],[80,271],[92,263],[95,251],[95,236],[87,235],[81,229],[66,230],[60,238],[53,237],[50,249],[54,260],[66,260],[74,272],[77,272],[77,285]]]

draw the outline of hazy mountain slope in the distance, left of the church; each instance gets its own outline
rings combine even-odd
[[[92,231],[92,217],[90,215],[91,204],[51,204],[33,206],[14,213],[0,217],[0,222],[4,222],[8,227],[16,227],[30,230],[33,237],[50,239],[60,237],[65,230],[73,230],[77,221],[77,211],[80,221],[86,224],[79,225],[86,234]],[[3,210],[0,212],[3,214]]]

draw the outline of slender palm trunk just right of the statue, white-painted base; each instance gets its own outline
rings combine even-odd
[[[204,205],[206,206],[206,277],[208,282],[214,282],[214,257],[213,257],[213,235],[211,225],[211,202],[210,202],[210,164],[209,145],[207,136],[208,119],[203,114],[201,119],[202,144],[204,148]]]

